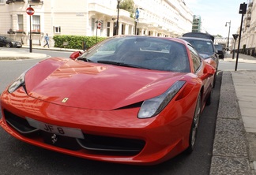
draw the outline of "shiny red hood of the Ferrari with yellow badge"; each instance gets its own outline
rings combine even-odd
[[[115,110],[162,94],[185,74],[51,58],[26,73],[25,85],[45,102]]]

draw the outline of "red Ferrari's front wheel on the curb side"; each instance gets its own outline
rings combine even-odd
[[[195,142],[197,140],[200,115],[201,115],[201,94],[198,95],[198,101],[197,101],[196,108],[194,110],[194,117],[193,117],[192,125],[190,128],[189,147],[186,150],[187,153],[189,154],[194,150]]]

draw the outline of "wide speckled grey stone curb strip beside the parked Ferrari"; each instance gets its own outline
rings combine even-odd
[[[232,73],[225,71],[221,80],[210,175],[252,174],[247,145]]]

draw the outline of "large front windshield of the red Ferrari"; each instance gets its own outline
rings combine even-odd
[[[186,47],[182,43],[156,37],[122,36],[105,39],[78,59],[137,69],[190,72]]]

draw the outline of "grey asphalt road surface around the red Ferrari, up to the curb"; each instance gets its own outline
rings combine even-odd
[[[39,60],[1,61],[0,91],[2,92],[11,81],[37,61]],[[0,128],[0,174],[209,174],[221,76],[222,73],[218,73],[212,104],[206,106],[201,115],[196,148],[190,155],[183,153],[157,166],[128,166],[95,162],[23,143]]]

